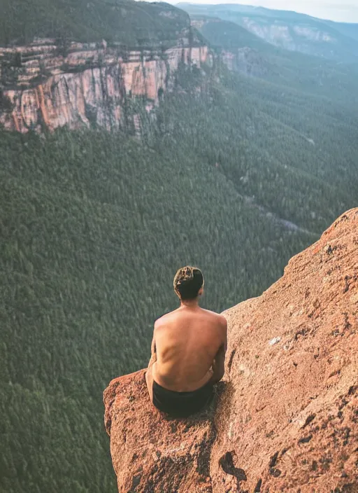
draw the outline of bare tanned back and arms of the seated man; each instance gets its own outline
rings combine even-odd
[[[197,305],[164,315],[155,323],[154,380],[177,392],[194,391],[208,383],[215,358],[226,349],[226,331],[222,315]]]

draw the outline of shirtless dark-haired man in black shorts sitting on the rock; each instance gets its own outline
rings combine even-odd
[[[224,376],[227,321],[199,307],[201,270],[184,267],[174,277],[180,307],[155,322],[152,357],[145,380],[150,400],[172,417],[198,412]]]

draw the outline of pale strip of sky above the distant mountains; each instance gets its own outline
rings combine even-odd
[[[358,0],[178,0],[192,4],[244,4],[296,11],[322,19],[358,22]]]

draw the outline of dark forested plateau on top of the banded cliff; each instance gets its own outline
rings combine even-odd
[[[106,39],[133,48],[171,46],[189,27],[183,11],[162,2],[131,0],[3,0],[0,46],[34,37],[95,42]]]

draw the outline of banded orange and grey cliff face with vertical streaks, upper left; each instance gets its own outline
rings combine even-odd
[[[7,130],[27,132],[101,125],[108,130],[136,124],[136,97],[155,106],[171,90],[180,63],[210,63],[206,46],[190,47],[188,33],[178,46],[127,50],[101,43],[37,40],[31,46],[0,48],[0,123]],[[1,86],[0,86],[1,88]]]

